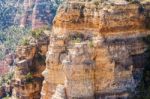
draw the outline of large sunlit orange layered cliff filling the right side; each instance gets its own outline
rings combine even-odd
[[[129,97],[144,68],[150,3],[67,0],[58,9],[41,99]]]

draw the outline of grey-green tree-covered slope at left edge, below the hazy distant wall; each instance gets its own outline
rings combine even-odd
[[[29,34],[30,29],[11,26],[5,30],[0,30],[0,59],[3,59],[6,51],[14,52],[19,41]],[[27,44],[27,40],[23,39]]]

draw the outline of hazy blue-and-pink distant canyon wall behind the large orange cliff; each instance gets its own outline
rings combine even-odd
[[[12,25],[50,27],[58,5],[62,0],[1,0],[0,29]]]

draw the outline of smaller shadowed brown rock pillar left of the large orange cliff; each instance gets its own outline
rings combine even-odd
[[[12,99],[40,99],[45,69],[45,54],[48,49],[48,36],[30,38],[28,45],[19,46],[16,50],[16,68],[13,81]]]

